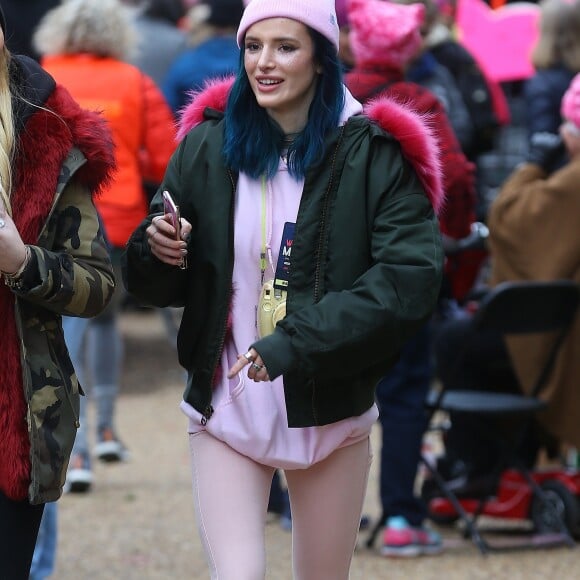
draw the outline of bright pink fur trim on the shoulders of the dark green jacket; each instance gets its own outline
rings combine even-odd
[[[191,93],[189,105],[180,113],[177,138],[204,121],[207,107],[225,111],[233,78],[209,82],[199,92]],[[387,97],[378,97],[367,103],[365,114],[400,143],[403,156],[417,172],[427,197],[436,213],[441,210],[445,194],[439,160],[439,146],[430,126],[428,115],[419,114],[411,106],[401,105]]]

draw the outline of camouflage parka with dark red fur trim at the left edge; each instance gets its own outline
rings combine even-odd
[[[29,59],[13,59],[43,86],[28,87],[28,114],[15,105],[12,217],[31,259],[18,285],[0,283],[0,490],[39,504],[60,497],[79,426],[61,316],[95,316],[115,285],[92,199],[115,161],[104,119],[80,109]]]

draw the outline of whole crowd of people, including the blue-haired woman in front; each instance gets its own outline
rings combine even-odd
[[[296,577],[346,579],[377,422],[380,552],[441,552],[416,491],[427,393],[499,367],[519,391],[543,348],[474,337],[473,290],[580,282],[580,0],[541,0],[535,72],[501,84],[455,0],[33,4],[0,0],[0,577],[49,577],[56,500],[129,456],[128,298],[182,313],[212,578],[264,577],[272,511]],[[514,95],[525,143],[490,199]],[[458,252],[478,220],[487,244]],[[580,448],[580,317],[565,340],[530,466]],[[452,417],[438,460],[466,489],[498,456],[479,428]]]

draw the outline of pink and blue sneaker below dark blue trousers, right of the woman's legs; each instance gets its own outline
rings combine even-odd
[[[408,557],[439,554],[443,550],[441,536],[425,527],[412,527],[396,516],[387,520],[381,554],[390,557]]]

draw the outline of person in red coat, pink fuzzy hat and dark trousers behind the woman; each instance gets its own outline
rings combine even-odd
[[[422,46],[422,4],[347,0],[350,49],[354,67],[345,75],[353,96],[368,103],[379,96],[409,105],[426,115],[440,148],[446,195],[439,225],[443,238],[468,235],[475,221],[474,166],[453,132],[443,105],[428,89],[405,80],[406,67]],[[444,244],[445,247],[445,244]],[[462,276],[461,262],[447,259],[447,285]],[[427,511],[413,493],[423,434],[424,401],[433,377],[429,325],[404,348],[401,359],[377,385],[382,425],[380,497],[385,524],[381,552],[415,556],[441,551],[441,538],[423,526]],[[373,533],[373,535],[374,535]]]

